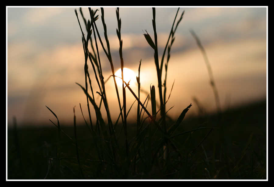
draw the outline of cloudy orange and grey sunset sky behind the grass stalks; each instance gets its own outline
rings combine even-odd
[[[85,85],[82,33],[77,21],[78,12],[82,27],[84,22],[79,7],[6,7],[6,123],[53,125],[73,123],[73,107],[76,121],[87,119],[86,96],[76,83]],[[100,8],[96,21],[99,34],[104,40]],[[177,7],[156,7],[156,31],[159,58],[175,18]],[[193,29],[206,50],[222,110],[267,98],[268,68],[268,8],[267,7],[180,7],[178,17],[184,11],[171,47],[167,69],[167,113],[174,120],[190,103],[189,115],[198,114],[193,98],[208,111],[214,112],[216,104],[209,75]],[[83,7],[86,19],[90,19],[87,7]],[[157,87],[154,50],[143,36],[145,30],[153,36],[152,8],[121,7],[121,39],[123,40],[124,66],[138,75],[141,60],[141,101],[145,101],[150,85]],[[115,71],[121,68],[116,8],[105,7],[104,19]],[[176,21],[177,22],[177,21]],[[85,32],[86,34],[86,32]],[[86,36],[86,35],[85,35]],[[154,37],[152,37],[154,40]],[[93,40],[94,41],[94,40]],[[105,40],[104,40],[105,44]],[[90,47],[90,46],[89,46]],[[110,63],[99,47],[102,72],[107,79],[111,73]],[[164,61],[166,62],[166,60]],[[90,62],[89,62],[90,64]],[[91,64],[90,64],[91,65]],[[89,71],[93,76],[92,66]],[[163,75],[164,77],[164,75]],[[92,86],[97,105],[100,96],[96,80]],[[137,93],[136,79],[130,86]],[[122,88],[120,97],[122,96]],[[106,83],[107,100],[111,117],[118,117],[118,100],[113,78]],[[127,109],[135,101],[127,94]],[[158,94],[156,89],[156,95]],[[156,97],[157,99],[157,97]],[[159,98],[158,98],[159,99]],[[159,100],[158,100],[159,101]],[[47,107],[46,107],[47,106]],[[136,119],[137,102],[129,112],[129,119]],[[148,105],[148,108],[150,106]],[[94,117],[92,111],[92,116]],[[103,112],[104,115],[104,112]],[[106,116],[104,116],[106,119]]]

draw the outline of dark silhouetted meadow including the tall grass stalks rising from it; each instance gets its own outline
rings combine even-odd
[[[17,129],[14,118],[13,129],[8,129],[8,179],[266,179],[266,100],[221,110],[209,60],[194,31],[191,34],[205,60],[217,112],[205,114],[200,107],[198,116],[185,119],[192,105],[199,106],[198,100],[194,100],[184,106],[176,121],[168,117],[172,108],[165,106],[169,97],[172,97],[170,93],[173,87],[168,85],[171,88],[168,93],[168,63],[175,32],[184,11],[179,13],[178,9],[166,47],[160,55],[157,48],[156,11],[152,9],[154,33],[149,35],[144,30],[144,38],[154,49],[158,84],[150,87],[146,100],[140,100],[140,73],[136,77],[138,93],[132,91],[130,82],[124,81],[122,18],[119,17],[119,9],[116,10],[116,16],[121,77],[114,72],[104,9],[100,10],[104,42],[96,26],[99,24],[97,10],[89,8],[88,20],[84,18],[82,9],[79,11],[75,10],[75,13],[82,32],[85,85],[77,84],[83,90],[83,97],[86,97],[89,118],[85,119],[85,124],[76,124],[74,116],[73,124],[65,126],[58,120],[58,112],[49,107],[53,116],[50,119],[52,127]],[[79,15],[83,18],[84,26],[79,21]],[[110,78],[114,80],[120,108],[116,118],[110,116],[104,86],[108,77],[103,76],[98,45],[103,48],[112,70]],[[159,59],[159,55],[162,58]],[[140,58],[139,72],[141,68]],[[90,74],[95,75],[93,84],[97,84],[100,92],[93,91],[95,86],[91,83]],[[122,95],[119,95],[117,79],[123,81]],[[135,97],[137,106],[126,105],[126,89]],[[100,103],[95,103],[95,94],[100,95]],[[151,111],[147,109],[148,105]],[[128,121],[127,115],[135,106],[136,121]],[[84,108],[86,105],[81,110]],[[102,116],[103,110],[106,117]],[[92,119],[92,114],[95,114],[96,119]]]

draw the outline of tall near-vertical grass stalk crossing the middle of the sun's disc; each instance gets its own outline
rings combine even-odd
[[[119,39],[119,55],[121,60],[121,74],[122,74],[122,81],[124,81],[124,60],[123,60],[123,54],[122,54],[122,46],[123,46],[123,40],[121,39],[121,18],[119,17],[119,8],[116,9],[116,16],[117,16],[117,22],[118,22],[118,29],[117,36]],[[125,86],[124,83],[122,83],[122,89],[123,89],[123,106],[124,106],[124,131],[125,131],[125,146],[126,146],[126,156],[128,157],[128,132],[127,132],[127,110],[126,110],[126,93],[125,93]]]

